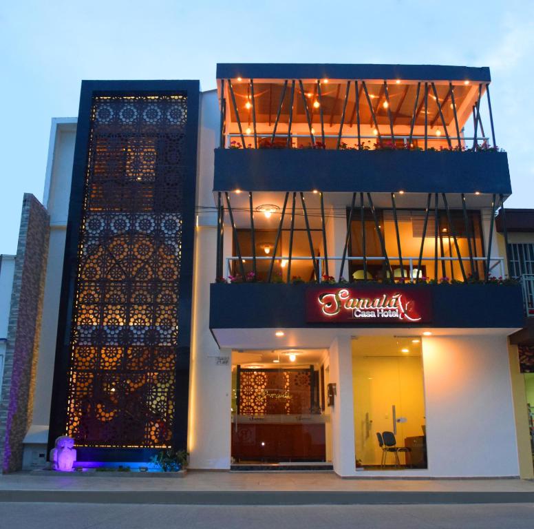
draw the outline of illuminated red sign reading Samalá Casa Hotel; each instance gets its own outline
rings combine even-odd
[[[431,320],[429,292],[395,287],[309,289],[306,292],[308,322],[358,324],[411,324]]]

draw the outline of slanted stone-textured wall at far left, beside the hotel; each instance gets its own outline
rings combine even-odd
[[[49,234],[46,209],[32,194],[24,194],[0,395],[3,473],[20,470],[22,442],[32,422]]]

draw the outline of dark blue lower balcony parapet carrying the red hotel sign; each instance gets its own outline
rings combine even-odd
[[[211,284],[210,328],[519,329],[519,284]]]

